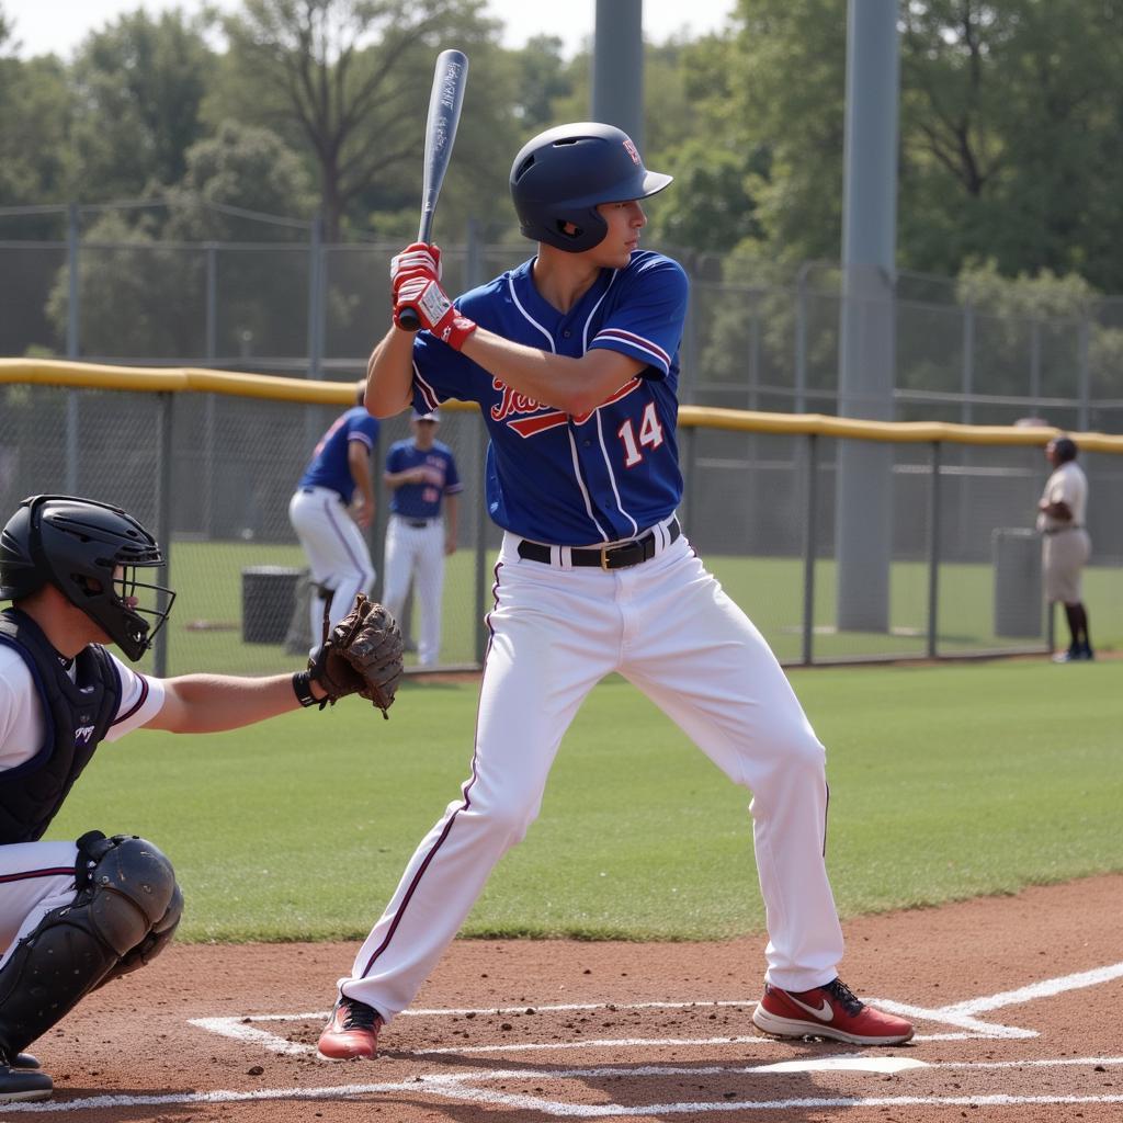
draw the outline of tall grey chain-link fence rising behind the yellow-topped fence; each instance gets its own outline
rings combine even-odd
[[[363,372],[387,321],[389,262],[403,239],[326,245],[318,223],[284,220],[283,241],[181,243],[143,228],[99,240],[107,212],[0,208],[0,355],[312,378]],[[271,230],[281,222],[271,221]],[[475,225],[442,240],[454,293],[530,249],[511,230]],[[666,248],[692,277],[683,402],[839,412],[837,264],[733,284],[720,258]],[[947,277],[901,272],[891,289],[893,402],[876,416],[976,424],[1033,416],[1123,431],[1123,298],[1092,301],[1079,318],[1020,317],[973,307]]]

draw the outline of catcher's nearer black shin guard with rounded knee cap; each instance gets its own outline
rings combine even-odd
[[[94,987],[147,962],[179,922],[172,864],[150,842],[92,831],[77,844],[74,901],[48,912],[0,969],[0,1053],[7,1057]]]

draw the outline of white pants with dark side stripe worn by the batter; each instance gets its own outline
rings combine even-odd
[[[842,932],[823,856],[825,754],[756,627],[685,538],[615,570],[521,559],[518,542],[505,536],[495,569],[475,755],[463,798],[449,804],[413,855],[351,977],[339,980],[343,993],[386,1021],[409,1005],[492,867],[538,814],[547,774],[582,701],[613,670],[730,779],[752,791],[769,934],[766,978],[796,992],[829,983],[842,958]],[[554,554],[564,560],[564,551]],[[620,798],[628,797],[622,775]]]

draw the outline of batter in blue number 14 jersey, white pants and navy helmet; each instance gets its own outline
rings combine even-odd
[[[683,270],[640,248],[648,172],[627,135],[550,129],[514,159],[526,264],[453,305],[436,247],[393,262],[395,326],[371,356],[380,417],[480,403],[495,568],[472,773],[421,842],[359,949],[320,1037],[373,1057],[494,864],[538,813],[550,765],[605,675],[634,683],[734,783],[752,791],[768,946],[754,1022],[782,1037],[907,1041],[912,1025],[838,977],[842,932],[824,861],[824,750],[775,656],[683,537],[675,441]],[[417,338],[396,326],[418,312]]]

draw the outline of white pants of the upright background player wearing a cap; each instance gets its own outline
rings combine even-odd
[[[419,526],[420,523],[420,526]],[[445,520],[408,519],[392,514],[386,527],[382,603],[395,620],[402,619],[413,576],[413,592],[421,610],[418,663],[431,667],[440,650],[440,610],[445,592]]]

